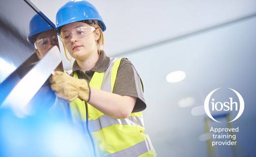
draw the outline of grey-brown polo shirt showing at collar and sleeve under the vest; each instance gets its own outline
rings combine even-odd
[[[90,81],[94,75],[94,72],[101,73],[105,71],[109,63],[109,56],[107,56],[104,51],[101,51],[94,68],[89,71],[82,72],[75,60],[72,71],[76,71],[78,78],[83,78]],[[137,98],[132,112],[139,112],[146,108],[141,79],[134,66],[127,58],[122,58],[121,60],[117,71],[117,78],[113,93]]]

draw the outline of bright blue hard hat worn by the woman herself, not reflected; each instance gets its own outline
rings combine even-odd
[[[93,4],[85,0],[73,0],[65,3],[56,14],[57,33],[59,34],[60,28],[66,24],[84,20],[94,20],[102,31],[106,30],[106,26]]]

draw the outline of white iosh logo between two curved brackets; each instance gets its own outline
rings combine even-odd
[[[207,97],[205,98],[205,101],[204,101],[205,113],[208,115],[209,118],[211,118],[215,122],[219,122],[219,121],[217,121],[216,119],[213,118],[213,116],[211,115],[210,109],[211,109],[211,111],[237,111],[238,110],[238,103],[233,102],[233,98],[228,98],[229,102],[215,102],[214,98],[211,99],[211,96],[213,95],[213,93],[216,92],[218,89],[220,89],[220,88],[217,88],[217,89],[211,91],[207,95]],[[238,114],[236,115],[236,117],[233,120],[230,121],[230,122],[233,122],[233,121],[237,120],[242,115],[242,113],[244,111],[244,99],[236,90],[234,90],[232,88],[228,88],[228,89],[232,90],[237,95],[237,97],[239,99]],[[210,99],[211,99],[211,103],[210,103]],[[221,123],[221,122],[219,122],[219,123]]]

